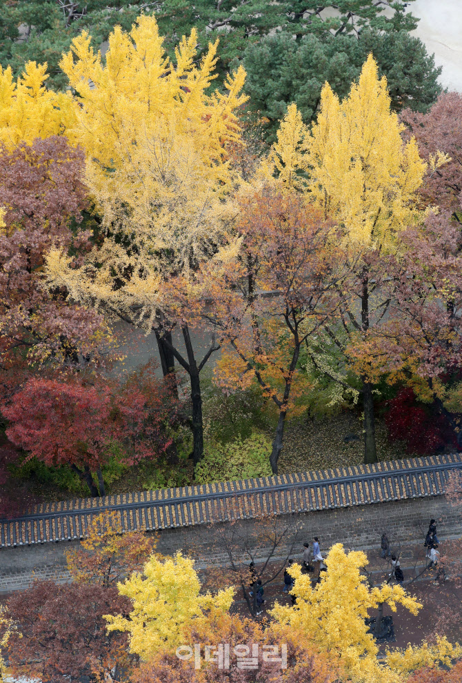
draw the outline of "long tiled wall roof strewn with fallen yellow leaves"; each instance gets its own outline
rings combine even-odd
[[[457,468],[459,455],[439,455],[43,504],[23,517],[1,519],[0,547],[79,539],[102,511],[116,511],[123,531],[157,531],[443,495],[449,472]]]

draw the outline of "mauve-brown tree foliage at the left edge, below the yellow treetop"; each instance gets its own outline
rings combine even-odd
[[[3,368],[17,361],[17,348],[44,348],[66,357],[103,324],[94,311],[66,306],[66,293],[40,286],[44,255],[52,244],[79,251],[90,248],[88,231],[74,240],[70,223],[81,221],[86,206],[83,151],[63,137],[37,139],[12,152],[0,146],[0,330]]]

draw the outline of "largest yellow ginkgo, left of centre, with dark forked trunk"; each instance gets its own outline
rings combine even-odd
[[[117,27],[105,62],[83,32],[61,68],[77,92],[74,139],[87,152],[87,184],[101,217],[101,242],[81,268],[59,250],[48,257],[50,284],[157,333],[164,373],[174,359],[190,376],[194,462],[203,453],[199,373],[188,329],[194,272],[218,250],[232,248],[236,211],[229,201],[239,179],[228,145],[239,140],[237,110],[245,102],[240,67],[225,91],[210,91],[217,43],[198,63],[197,33],[183,37],[176,59],[165,57],[154,17],[141,16],[130,33]],[[223,255],[223,254],[222,254]],[[179,297],[168,287],[181,279]],[[177,321],[186,354],[172,344]]]

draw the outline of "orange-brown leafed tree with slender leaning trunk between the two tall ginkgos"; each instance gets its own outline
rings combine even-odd
[[[204,315],[225,344],[217,370],[222,386],[256,381],[277,406],[270,457],[277,473],[285,419],[309,388],[301,348],[337,305],[327,294],[341,278],[339,253],[321,210],[270,189],[241,199],[237,231],[234,261],[215,265],[214,276],[205,273],[213,315],[210,308]]]

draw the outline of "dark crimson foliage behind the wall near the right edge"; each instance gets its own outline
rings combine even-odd
[[[431,408],[418,402],[411,388],[401,389],[386,405],[388,435],[392,440],[404,441],[410,453],[425,455],[446,444],[457,446],[454,431],[445,417],[435,415]]]

